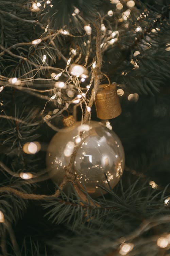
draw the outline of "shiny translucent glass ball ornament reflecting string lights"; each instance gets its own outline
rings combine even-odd
[[[122,143],[115,132],[96,121],[85,125],[76,122],[61,129],[50,141],[46,163],[56,183],[63,180],[65,166],[69,164],[76,147],[74,173],[79,189],[86,190],[95,198],[106,193],[101,187],[108,189],[108,182],[112,188],[118,183],[125,165]]]

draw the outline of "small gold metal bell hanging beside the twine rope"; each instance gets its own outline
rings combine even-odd
[[[99,86],[95,99],[97,117],[103,120],[119,116],[122,112],[114,84]]]

